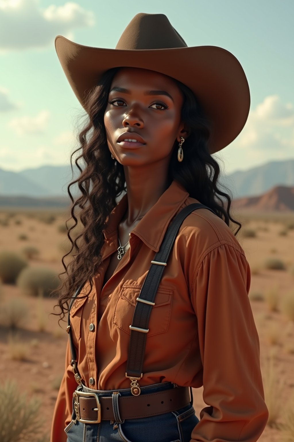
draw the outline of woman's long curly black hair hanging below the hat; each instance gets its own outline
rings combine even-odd
[[[64,271],[59,275],[59,288],[53,292],[59,293],[56,306],[59,306],[60,313],[52,314],[60,315],[60,319],[63,319],[68,311],[69,301],[78,287],[85,282],[89,283],[89,290],[85,296],[92,290],[93,277],[101,263],[100,251],[104,243],[102,230],[109,213],[117,204],[117,198],[127,191],[123,165],[117,160],[112,160],[104,127],[104,112],[110,86],[119,69],[106,71],[99,83],[89,91],[87,122],[78,135],[80,146],[71,154],[72,170],[73,157],[78,154],[74,164],[80,175],[67,187],[72,202],[71,217],[67,220],[67,223],[71,222],[67,231],[71,250],[62,258]],[[185,140],[185,155],[180,163],[177,160],[178,143],[175,141],[167,180],[177,180],[192,198],[214,210],[228,226],[230,221],[237,224],[239,227],[234,232],[234,235],[237,235],[242,225],[230,215],[231,192],[218,183],[220,167],[208,152],[209,121],[205,118],[194,93],[178,80],[173,80],[183,95],[181,116],[190,129],[190,135]],[[78,197],[73,197],[72,186],[78,186]],[[221,191],[220,186],[229,194]],[[74,235],[78,219],[82,224],[82,231]],[[65,263],[65,258],[69,256],[72,257],[71,261]]]

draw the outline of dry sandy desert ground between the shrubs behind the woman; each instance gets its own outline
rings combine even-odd
[[[0,225],[0,250],[21,252],[27,245],[34,246],[40,255],[30,260],[29,265],[47,267],[59,273],[62,270],[61,256],[66,234],[58,228],[64,224],[64,213],[54,213],[55,220],[52,224],[46,224],[40,221],[40,212],[15,211],[13,216],[9,216],[12,212],[0,212],[0,221],[8,220],[8,225]],[[237,215],[235,217],[240,220]],[[285,223],[291,221],[294,224],[294,213],[275,217],[257,217],[252,213],[240,221],[244,222],[242,231],[252,229],[256,234],[254,237],[238,234],[237,238],[252,271],[249,297],[260,338],[266,402],[273,421],[266,426],[259,441],[280,442],[283,440],[283,431],[279,424],[283,424],[287,404],[294,397],[293,302],[292,319],[288,316],[289,307],[287,311],[283,308],[287,296],[291,295],[292,300],[294,298],[294,228],[287,229],[286,234],[280,232],[285,230]],[[21,235],[25,235],[26,239],[21,239]],[[269,257],[281,259],[285,270],[265,268],[265,260]],[[0,308],[8,299],[21,298],[30,310],[25,325],[19,330],[19,339],[27,349],[26,360],[11,358],[8,345],[10,330],[0,325],[0,379],[1,382],[13,379],[19,390],[27,392],[28,397],[40,398],[40,414],[45,416],[49,440],[52,412],[64,370],[64,351],[68,339],[65,325],[62,322],[61,329],[57,316],[49,315],[56,303],[54,299],[25,297],[17,286],[7,284],[2,285],[0,292]],[[271,307],[270,299],[276,299],[276,308]],[[267,369],[271,361],[274,371],[269,376]],[[203,389],[194,390],[194,407],[198,417],[201,408],[206,406],[202,392]]]

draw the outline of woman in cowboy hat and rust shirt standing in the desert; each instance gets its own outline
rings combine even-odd
[[[242,67],[221,48],[188,48],[163,14],[136,15],[115,50],[61,36],[56,50],[89,122],[71,212],[84,229],[59,299],[73,348],[51,442],[257,441],[268,409],[250,269],[211,156],[246,122]],[[205,207],[184,219],[167,263],[154,262],[192,203]],[[136,329],[152,261],[164,272],[148,328]],[[132,338],[143,335],[144,348]],[[198,419],[189,387],[202,385]]]

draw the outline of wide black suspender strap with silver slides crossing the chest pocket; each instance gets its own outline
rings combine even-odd
[[[135,305],[132,324],[130,325],[130,344],[127,359],[126,377],[131,381],[131,392],[138,396],[141,392],[138,381],[143,376],[143,362],[148,324],[156,292],[162,277],[164,267],[175,242],[175,238],[184,219],[194,210],[205,208],[215,213],[212,209],[200,203],[193,203],[184,207],[171,222],[165,232],[160,249],[151,261],[151,267],[146,275],[140,294]],[[215,213],[216,214],[216,213]]]

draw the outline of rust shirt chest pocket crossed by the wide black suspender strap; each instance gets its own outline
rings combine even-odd
[[[116,301],[113,314],[113,324],[130,335],[130,324],[132,324],[135,305],[142,286],[124,284]],[[171,299],[173,290],[166,287],[158,287],[155,297],[155,305],[152,307],[149,319],[150,336],[165,333],[168,328],[171,316]]]

